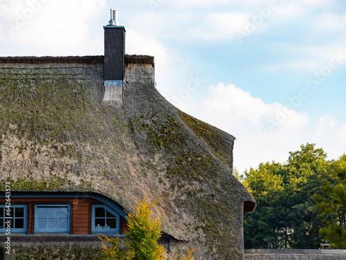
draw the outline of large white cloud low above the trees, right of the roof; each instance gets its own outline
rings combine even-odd
[[[179,108],[237,138],[233,154],[239,171],[271,160],[284,163],[289,151],[307,142],[316,143],[333,158],[346,147],[346,124],[339,127],[333,118],[321,118],[315,130],[306,113],[276,102],[266,104],[233,84],[210,86],[204,100],[181,103]]]

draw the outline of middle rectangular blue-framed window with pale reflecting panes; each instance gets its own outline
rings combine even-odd
[[[70,232],[70,205],[35,205],[36,232]]]

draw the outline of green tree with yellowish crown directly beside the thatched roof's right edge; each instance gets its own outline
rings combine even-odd
[[[257,201],[255,212],[244,216],[245,248],[280,248],[282,229],[277,219],[282,208],[277,205],[284,190],[280,174],[283,170],[283,165],[272,162],[245,172],[243,184]]]

